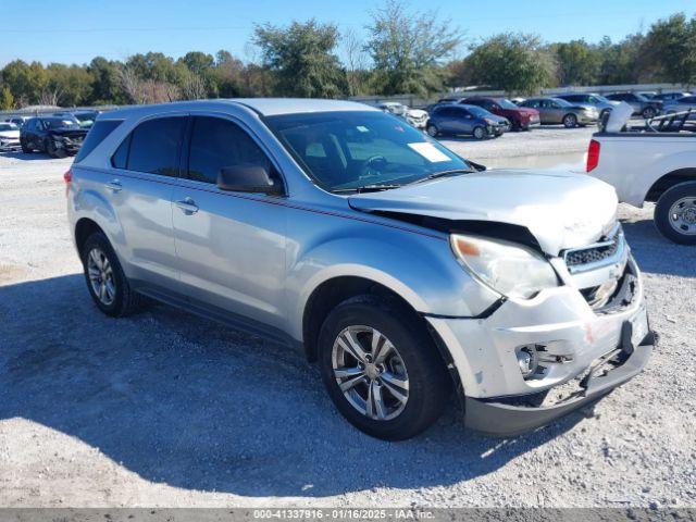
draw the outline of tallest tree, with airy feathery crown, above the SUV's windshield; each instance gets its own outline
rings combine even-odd
[[[372,14],[365,51],[372,58],[374,87],[383,95],[426,97],[443,89],[444,61],[461,44],[461,33],[435,12],[410,13],[397,0]]]

